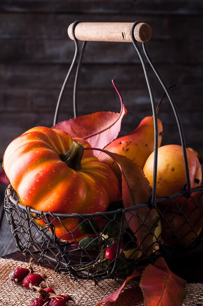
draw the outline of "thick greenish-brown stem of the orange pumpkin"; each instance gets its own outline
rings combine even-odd
[[[61,160],[66,163],[66,165],[74,170],[81,169],[81,159],[84,153],[84,147],[80,142],[73,141],[70,149],[60,154]]]

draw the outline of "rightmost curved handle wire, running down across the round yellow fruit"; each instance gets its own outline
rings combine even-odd
[[[145,56],[146,56],[146,58],[147,58],[147,60],[150,64],[150,66],[154,70],[158,80],[160,81],[163,89],[165,90],[165,93],[167,94],[167,97],[168,97],[168,99],[171,103],[172,109],[173,109],[175,117],[176,117],[178,129],[179,129],[179,133],[180,133],[180,138],[181,138],[181,144],[182,144],[182,148],[183,148],[185,175],[186,175],[186,180],[187,180],[187,194],[188,194],[188,197],[189,197],[191,195],[191,184],[190,184],[189,167],[188,167],[188,162],[187,162],[187,153],[186,153],[185,139],[184,139],[184,134],[183,134],[183,127],[182,127],[182,124],[181,124],[181,119],[180,119],[178,110],[176,108],[176,105],[173,101],[173,98],[171,96],[171,93],[168,90],[168,88],[166,87],[165,83],[163,82],[162,77],[160,76],[159,72],[157,71],[156,67],[154,66],[152,60],[150,59],[149,54],[147,52],[146,45],[144,43],[142,43],[142,48],[143,48],[144,54],[145,54]]]

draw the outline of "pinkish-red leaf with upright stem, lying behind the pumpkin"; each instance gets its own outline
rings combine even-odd
[[[120,113],[101,111],[57,123],[54,129],[68,132],[72,137],[86,139],[94,148],[103,149],[121,130],[122,117],[126,114],[121,94],[112,81],[121,101]],[[99,154],[99,153],[98,153]]]

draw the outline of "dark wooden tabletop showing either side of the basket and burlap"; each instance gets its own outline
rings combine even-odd
[[[16,247],[10,225],[3,209],[6,186],[0,183],[0,257],[26,261]],[[167,259],[169,268],[175,274],[184,278],[188,283],[203,283],[203,242],[190,254],[182,258]]]

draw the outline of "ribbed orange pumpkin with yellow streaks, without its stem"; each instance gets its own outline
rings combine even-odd
[[[83,139],[74,140],[84,148],[90,147]],[[109,203],[121,197],[116,175],[92,150],[84,150],[80,170],[61,161],[59,155],[67,152],[72,142],[64,131],[36,127],[10,143],[3,156],[3,168],[21,204],[43,212],[93,214],[104,212]],[[72,232],[78,219],[65,219],[63,223]],[[67,232],[60,221],[53,224],[57,237]],[[74,238],[80,236],[77,229]],[[61,238],[73,239],[71,234]]]

